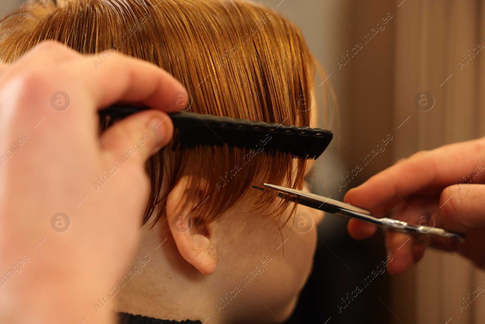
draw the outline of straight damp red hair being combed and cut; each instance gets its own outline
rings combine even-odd
[[[114,51],[157,64],[187,88],[191,112],[297,126],[310,123],[307,107],[313,102],[316,62],[297,27],[253,2],[28,1],[0,20],[0,61],[11,63],[48,39],[81,53],[99,53],[93,61],[96,68]],[[323,96],[326,102],[326,90]],[[151,195],[142,223],[155,210],[154,221],[160,219],[169,191],[185,174],[194,175],[204,188],[201,201],[209,197],[199,210],[201,222],[216,220],[254,190],[253,184],[301,189],[306,161],[297,160],[295,168],[291,155],[265,151],[270,137],[262,135],[247,149],[171,151],[169,144],[147,161]],[[272,194],[258,194],[254,207],[274,201]],[[288,206],[288,201],[278,200],[268,215]]]

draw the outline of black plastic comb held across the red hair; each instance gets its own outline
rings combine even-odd
[[[115,120],[150,109],[113,105],[100,110],[101,122],[111,126]],[[188,112],[168,114],[176,130],[172,150],[197,146],[227,146],[274,154],[290,153],[294,158],[316,159],[327,148],[333,132],[323,128],[282,125],[246,119],[233,119]],[[177,131],[178,130],[178,131]],[[263,145],[264,143],[264,145]]]

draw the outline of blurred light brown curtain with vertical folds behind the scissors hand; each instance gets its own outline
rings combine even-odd
[[[484,1],[397,0],[395,6],[392,124],[397,129],[407,121],[393,160],[484,136]],[[434,97],[431,110],[416,108],[420,91],[432,94],[425,100]],[[485,288],[482,280],[484,272],[465,257],[429,250],[411,272],[393,279],[391,308],[400,314],[393,323],[485,323],[481,295],[459,307],[478,286]]]

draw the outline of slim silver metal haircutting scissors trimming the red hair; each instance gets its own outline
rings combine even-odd
[[[323,210],[327,213],[350,217],[362,222],[367,222],[373,225],[383,227],[385,229],[392,229],[398,232],[412,234],[414,236],[440,236],[444,238],[455,239],[460,242],[463,242],[466,239],[466,236],[464,234],[450,232],[442,228],[435,228],[434,226],[420,226],[416,224],[393,220],[387,217],[377,218],[372,216],[369,210],[365,210],[350,204],[345,204],[337,200],[319,196],[310,192],[269,184],[263,184],[263,186],[279,191],[277,196],[281,199],[288,199],[294,202],[297,198],[299,198],[300,201],[298,202],[298,204],[318,210]],[[261,191],[265,190],[265,188],[258,186],[253,186],[253,188],[259,189]]]

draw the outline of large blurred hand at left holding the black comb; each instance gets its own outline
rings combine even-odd
[[[93,303],[132,262],[145,162],[171,139],[162,111],[177,111],[184,88],[151,63],[110,55],[96,68],[97,56],[45,42],[0,66],[0,323],[113,323],[114,302],[99,313]],[[97,110],[116,102],[157,110],[100,135]]]

